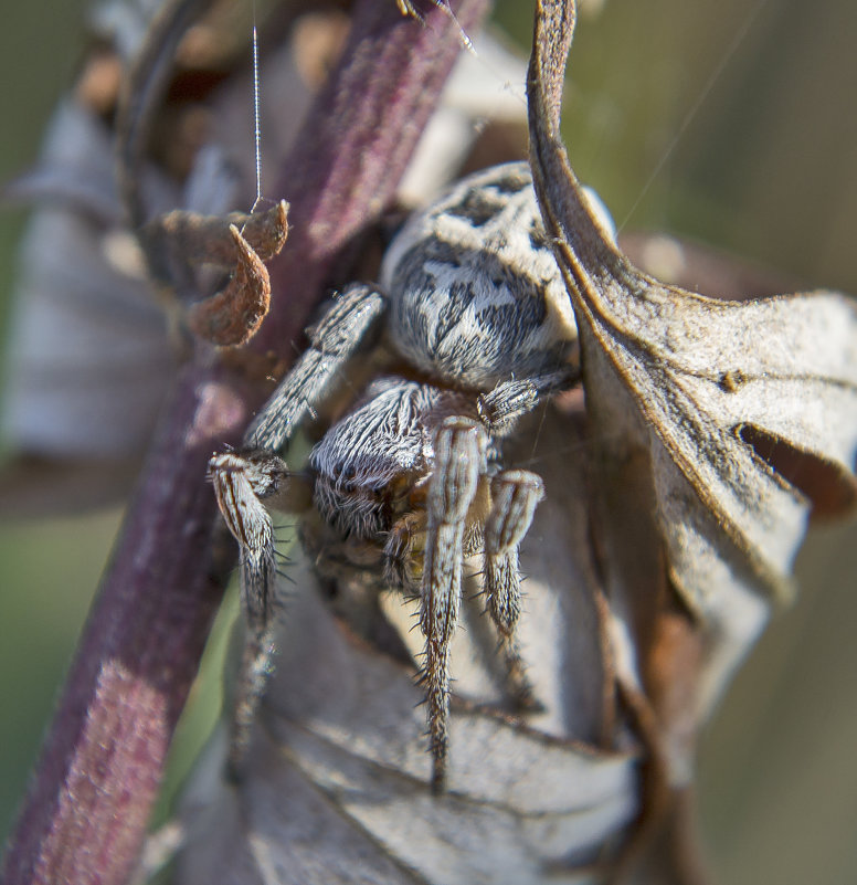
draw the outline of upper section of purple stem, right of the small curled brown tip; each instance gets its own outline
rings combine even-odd
[[[455,22],[431,0],[423,7],[421,25],[402,19],[394,0],[357,3],[349,64],[318,95],[273,191],[289,201],[289,239],[271,265],[272,289],[286,297],[272,305],[256,347],[284,354],[284,341],[298,338],[307,314],[296,323],[294,305],[317,304],[343,249],[395,194],[461,51]],[[472,31],[489,7],[462,0],[456,17]]]

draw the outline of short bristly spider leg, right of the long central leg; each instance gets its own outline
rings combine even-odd
[[[521,611],[518,547],[544,497],[541,478],[529,471],[504,471],[491,480],[491,512],[485,521],[487,608],[500,634],[510,693],[519,704],[536,705],[515,635]]]

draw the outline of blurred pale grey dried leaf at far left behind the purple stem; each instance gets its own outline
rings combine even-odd
[[[140,453],[174,371],[163,316],[119,225],[112,165],[100,123],[63,104],[29,179],[56,199],[25,233],[10,337],[4,433],[29,453]],[[162,178],[150,183],[156,201],[167,194]]]

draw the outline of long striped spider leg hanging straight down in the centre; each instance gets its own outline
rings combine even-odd
[[[447,418],[434,441],[434,471],[426,496],[427,533],[420,626],[425,636],[424,681],[434,771],[432,789],[446,777],[449,718],[449,641],[462,596],[467,512],[486,471],[485,429],[466,418]]]

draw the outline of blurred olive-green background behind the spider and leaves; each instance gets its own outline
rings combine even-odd
[[[42,0],[7,10],[2,179],[32,161],[70,82],[84,43],[81,8]],[[589,8],[572,52],[565,122],[579,176],[616,221],[705,239],[857,293],[857,4],[606,0]],[[497,18],[522,40],[530,9],[506,0]],[[19,229],[20,215],[0,217],[3,320]],[[0,524],[0,836],[118,519],[114,509]],[[857,878],[855,540],[854,521],[812,531],[797,603],[775,618],[703,740],[699,802],[721,883]],[[198,705],[198,716],[210,715],[205,708]]]

